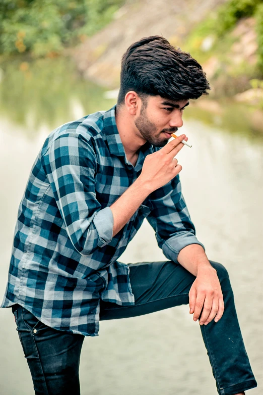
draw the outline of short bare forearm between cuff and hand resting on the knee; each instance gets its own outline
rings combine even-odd
[[[194,276],[197,276],[199,271],[207,268],[215,270],[210,264],[203,247],[199,244],[186,245],[179,252],[177,261]]]

